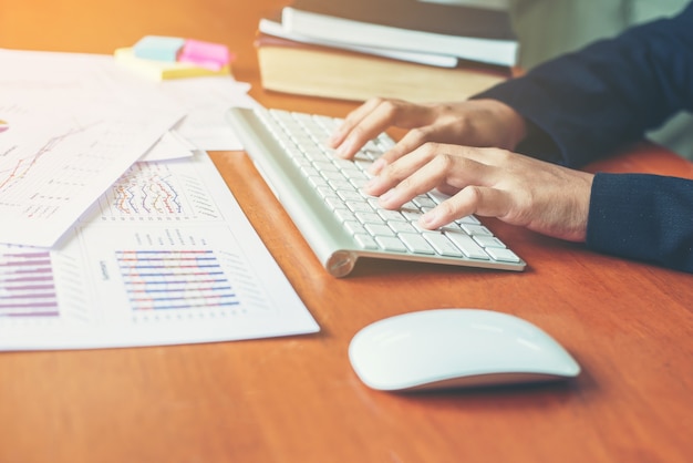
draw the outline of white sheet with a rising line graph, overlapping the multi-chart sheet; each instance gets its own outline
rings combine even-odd
[[[52,246],[177,119],[72,114],[0,137],[0,243]]]

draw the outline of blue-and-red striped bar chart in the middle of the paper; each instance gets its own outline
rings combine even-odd
[[[211,250],[123,250],[116,259],[135,311],[240,303]]]

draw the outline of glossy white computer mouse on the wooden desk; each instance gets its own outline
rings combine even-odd
[[[434,309],[373,322],[349,346],[369,387],[385,391],[539,382],[577,377],[580,366],[554,338],[518,317]]]

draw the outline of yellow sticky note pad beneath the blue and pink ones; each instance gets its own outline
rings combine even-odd
[[[155,81],[231,74],[229,64],[218,70],[210,70],[190,63],[146,60],[135,56],[132,48],[117,49],[114,56],[116,63]]]

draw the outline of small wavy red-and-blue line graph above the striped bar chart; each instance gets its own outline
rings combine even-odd
[[[198,176],[180,163],[136,163],[100,199],[103,220],[218,219]]]

